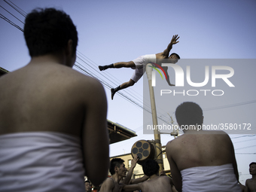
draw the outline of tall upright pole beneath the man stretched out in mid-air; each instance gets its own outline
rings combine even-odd
[[[157,129],[157,110],[156,110],[156,103],[154,99],[154,88],[152,87],[152,71],[151,63],[148,63],[146,66],[146,73],[148,76],[148,87],[149,87],[149,94],[151,97],[151,111],[152,111],[152,120],[154,126],[154,142],[156,143],[156,154],[157,154],[157,163],[160,166],[159,172],[163,171],[163,154],[162,154],[162,145],[161,145],[161,138],[160,133]]]

